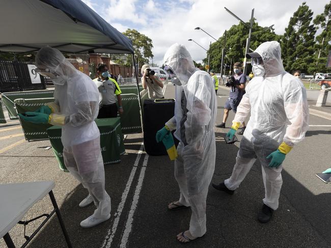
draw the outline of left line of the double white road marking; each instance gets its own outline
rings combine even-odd
[[[138,163],[139,163],[140,158],[141,158],[142,153],[143,153],[143,148],[144,148],[144,143],[141,144],[141,147],[139,149],[139,152],[137,154],[137,157],[136,157],[136,159],[134,161],[134,164],[133,164],[133,167],[132,167],[132,170],[131,170],[129,179],[126,182],[126,187],[125,187],[125,190],[124,190],[124,192],[122,194],[121,202],[118,205],[117,211],[115,213],[116,218],[114,220],[113,227],[112,227],[112,229],[110,229],[110,228],[108,229],[107,235],[105,236],[105,238],[103,240],[103,243],[102,243],[101,248],[103,248],[103,247],[109,248],[112,245],[113,238],[115,236],[115,233],[116,233],[116,230],[117,230],[117,226],[118,226],[118,223],[120,221],[120,217],[121,217],[121,214],[122,214],[124,205],[125,205],[125,201],[126,201],[126,198],[127,198],[128,193],[130,191],[130,188],[131,188],[131,184],[132,184],[132,181],[133,181],[133,177],[135,175],[135,171],[137,169]]]

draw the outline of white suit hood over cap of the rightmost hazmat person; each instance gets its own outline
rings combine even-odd
[[[265,68],[264,77],[272,77],[285,73],[281,58],[281,46],[277,41],[262,43],[254,52],[261,55]]]

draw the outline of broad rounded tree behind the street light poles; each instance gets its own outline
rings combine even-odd
[[[226,65],[227,71],[235,62],[243,62],[246,39],[249,35],[250,23],[239,23],[238,25],[233,25],[226,34],[226,56],[224,58],[224,64]],[[264,30],[265,27],[259,26],[259,24],[254,20],[253,22],[253,32],[251,36],[250,47],[254,50],[261,43],[265,41],[279,41],[280,36],[273,32],[273,29]],[[203,59],[204,63],[208,63],[208,54],[210,54],[210,68],[215,71],[220,71],[221,59],[222,59],[222,49],[224,48],[224,35],[218,38],[217,42],[211,44],[209,51],[207,52],[207,58]],[[232,62],[232,65],[230,65]]]

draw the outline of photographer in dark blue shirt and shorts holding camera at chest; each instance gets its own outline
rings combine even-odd
[[[225,122],[229,116],[229,111],[232,109],[233,112],[237,112],[237,107],[242,99],[242,96],[245,94],[245,83],[246,76],[241,72],[241,64],[239,62],[234,63],[233,76],[229,77],[226,83],[227,87],[231,87],[230,95],[224,106],[224,116],[223,122],[219,125],[216,125],[216,128],[225,128]],[[243,134],[245,130],[245,123],[242,123],[242,130],[239,134]]]

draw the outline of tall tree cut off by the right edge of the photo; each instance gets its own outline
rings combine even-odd
[[[327,56],[331,50],[331,2],[324,7],[324,12],[314,19],[317,28],[322,29],[322,33],[316,37],[315,60],[312,66],[315,73],[331,72],[331,68],[326,68]]]

